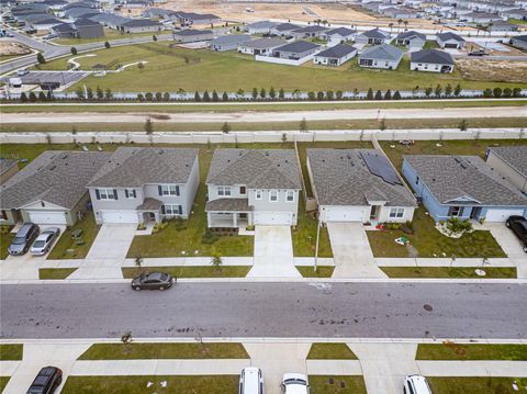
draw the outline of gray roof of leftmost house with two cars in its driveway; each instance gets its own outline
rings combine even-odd
[[[2,209],[19,209],[46,201],[71,210],[110,156],[101,151],[44,151],[1,185],[0,205]]]

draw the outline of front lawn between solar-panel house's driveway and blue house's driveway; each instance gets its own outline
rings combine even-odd
[[[427,215],[425,207],[415,210],[412,222],[414,234],[403,230],[367,232],[374,257],[408,257],[405,246],[394,239],[404,236],[418,251],[418,257],[506,257],[497,241],[487,230],[474,230],[461,238],[444,236],[435,228],[434,219]]]

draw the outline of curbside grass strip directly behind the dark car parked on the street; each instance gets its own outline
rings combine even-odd
[[[161,271],[176,278],[245,278],[251,266],[224,266],[221,269],[215,267],[144,267],[144,271]],[[123,277],[132,279],[137,277],[137,268],[122,268]]]

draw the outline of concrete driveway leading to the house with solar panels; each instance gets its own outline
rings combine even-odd
[[[335,271],[332,278],[386,278],[375,263],[362,223],[328,223]]]

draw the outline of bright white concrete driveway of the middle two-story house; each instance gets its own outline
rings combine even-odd
[[[256,226],[255,260],[248,278],[301,278],[293,263],[289,226]]]

